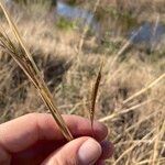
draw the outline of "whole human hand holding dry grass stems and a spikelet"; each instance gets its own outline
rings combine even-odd
[[[107,128],[88,119],[63,116],[75,140],[67,142],[51,114],[30,113],[0,125],[1,165],[103,164],[113,146],[106,141]]]

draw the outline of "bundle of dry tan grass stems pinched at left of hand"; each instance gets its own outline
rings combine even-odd
[[[33,58],[31,57],[25,44],[23,43],[19,31],[15,26],[15,24],[12,22],[8,11],[3,7],[2,2],[0,2],[0,8],[2,9],[10,28],[19,43],[19,47],[16,47],[13,42],[4,35],[2,32],[0,32],[0,47],[8,54],[10,54],[13,59],[18,63],[18,65],[23,69],[23,72],[26,74],[26,76],[31,79],[35,88],[37,89],[38,94],[41,95],[41,98],[45,102],[46,107],[50,109],[52,116],[54,117],[55,121],[57,122],[62,133],[64,136],[70,141],[73,140],[73,135],[70,131],[68,130],[66,123],[64,122],[58,109],[56,108],[52,95],[45,85],[44,80],[42,79],[42,76],[40,74],[40,70],[37,69],[37,66],[35,65]]]

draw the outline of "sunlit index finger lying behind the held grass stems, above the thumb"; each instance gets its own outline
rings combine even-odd
[[[88,119],[77,116],[63,117],[75,138],[92,135]],[[98,141],[102,141],[108,134],[107,128],[99,122],[95,122],[94,131]],[[23,151],[38,140],[64,140],[51,114],[31,113],[0,125],[0,144],[9,152]]]

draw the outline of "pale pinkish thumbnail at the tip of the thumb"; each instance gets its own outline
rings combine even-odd
[[[78,151],[78,161],[80,165],[91,165],[100,157],[102,153],[100,144],[92,140],[88,139]]]

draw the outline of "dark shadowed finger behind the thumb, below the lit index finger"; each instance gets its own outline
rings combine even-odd
[[[13,154],[11,163],[16,165],[41,164],[51,153],[63,145],[65,145],[64,141],[40,141],[30,148]],[[100,145],[102,154],[97,162],[98,165],[102,165],[103,160],[109,158],[113,153],[113,145],[110,142],[103,141]]]

